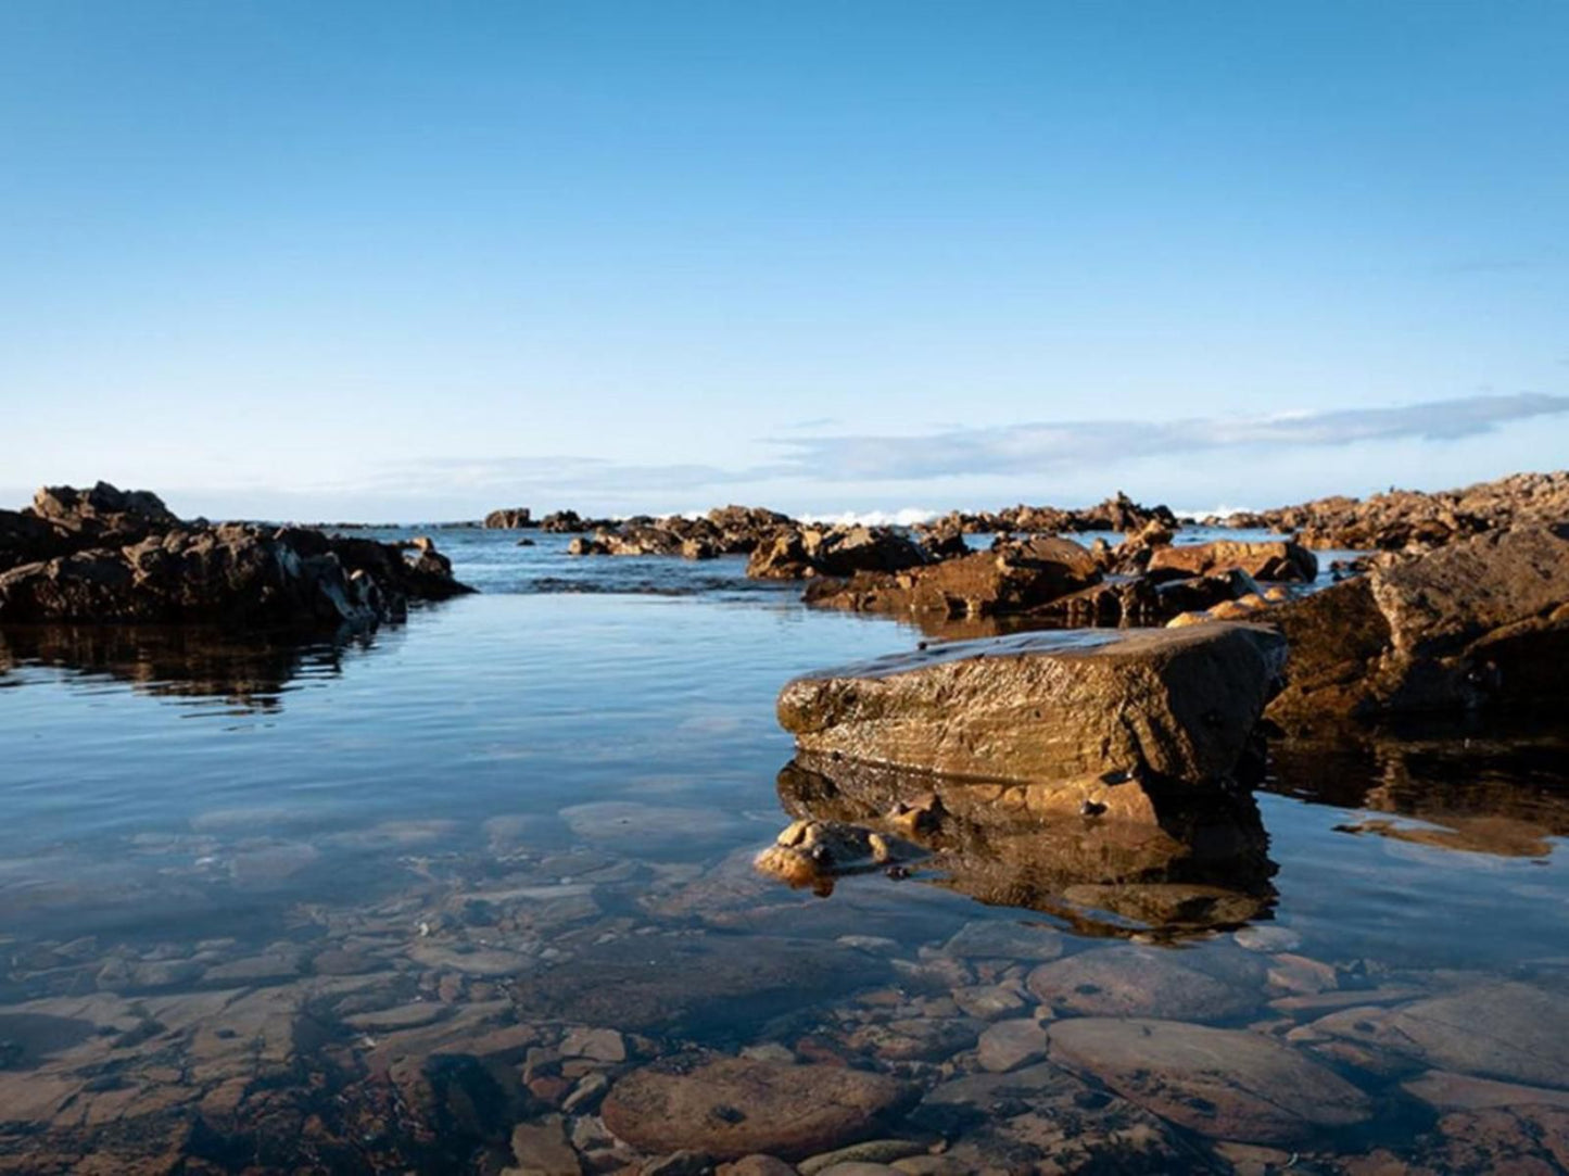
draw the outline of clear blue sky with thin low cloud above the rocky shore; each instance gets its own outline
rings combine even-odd
[[[0,5],[0,501],[1178,507],[1569,454],[1569,5]]]

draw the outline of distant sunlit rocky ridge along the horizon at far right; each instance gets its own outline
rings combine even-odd
[[[1511,474],[1431,495],[1392,490],[1365,501],[1320,498],[1219,521],[1296,531],[1313,548],[1428,550],[1516,524],[1569,521],[1569,471]]]

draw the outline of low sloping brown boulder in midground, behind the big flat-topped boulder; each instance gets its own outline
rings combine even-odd
[[[1086,548],[1070,539],[1039,537],[905,572],[819,581],[806,590],[806,603],[855,612],[992,617],[1026,612],[1098,581]]]

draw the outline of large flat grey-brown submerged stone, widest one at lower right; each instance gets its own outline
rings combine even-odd
[[[1079,1017],[1050,1036],[1053,1061],[1211,1138],[1290,1143],[1373,1115],[1360,1090],[1260,1033]]]

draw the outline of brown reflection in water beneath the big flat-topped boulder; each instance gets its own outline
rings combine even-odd
[[[808,755],[778,776],[791,816],[908,837],[932,854],[923,868],[940,884],[987,904],[1056,914],[1089,934],[1181,937],[1268,914],[1277,867],[1250,798],[1095,783],[1103,799],[1081,801],[1058,785],[952,780]],[[908,812],[926,809],[940,820],[912,827]]]

